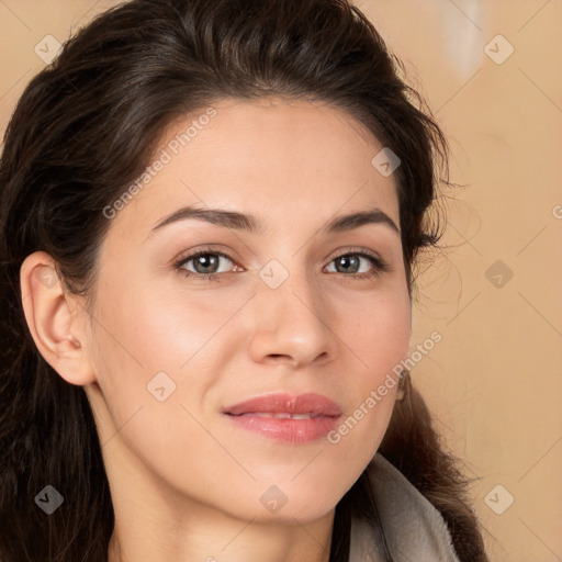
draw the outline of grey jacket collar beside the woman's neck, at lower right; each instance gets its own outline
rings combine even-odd
[[[395,562],[460,562],[441,514],[380,453],[374,456],[371,486]],[[351,520],[349,562],[380,562],[366,522]]]

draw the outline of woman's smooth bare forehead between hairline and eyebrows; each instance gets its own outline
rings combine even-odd
[[[394,176],[373,166],[382,145],[319,102],[225,100],[176,120],[112,227],[150,231],[184,205],[312,223],[376,206],[398,224]]]

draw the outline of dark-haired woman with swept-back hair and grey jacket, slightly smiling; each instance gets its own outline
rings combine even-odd
[[[487,560],[404,369],[447,171],[419,102],[340,0],[133,0],[32,80],[3,561]]]

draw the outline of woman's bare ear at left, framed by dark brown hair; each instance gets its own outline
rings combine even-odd
[[[70,384],[95,381],[87,349],[88,313],[67,294],[55,261],[44,251],[25,258],[20,269],[23,312],[40,353]]]

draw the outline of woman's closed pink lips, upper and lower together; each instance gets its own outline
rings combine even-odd
[[[235,427],[293,445],[325,438],[341,417],[334,401],[313,393],[270,394],[229,406],[224,413]]]

